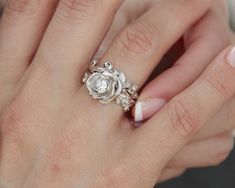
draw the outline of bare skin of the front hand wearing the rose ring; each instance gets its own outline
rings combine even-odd
[[[122,1],[63,0],[57,8],[57,1],[38,2],[9,1],[1,20],[1,187],[152,187],[234,95],[231,47],[133,129],[120,106],[99,104],[79,83]],[[122,30],[101,62],[111,60],[142,86],[210,5],[209,0],[162,1]]]

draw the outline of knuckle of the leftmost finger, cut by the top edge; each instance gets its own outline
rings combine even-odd
[[[9,0],[6,4],[6,14],[13,16],[19,14],[31,15],[39,7],[40,0]]]

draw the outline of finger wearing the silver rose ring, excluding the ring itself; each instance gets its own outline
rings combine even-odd
[[[157,6],[120,32],[100,62],[112,62],[116,69],[125,72],[128,80],[142,85],[166,51],[205,13],[209,5],[210,0],[159,1]],[[80,94],[85,95],[84,101],[89,103],[85,87]],[[84,98],[81,95],[79,97]],[[94,105],[91,106],[94,110]],[[100,109],[112,112],[111,119],[119,119],[117,114],[122,115],[118,105],[103,108],[98,105],[98,108],[103,115],[106,113]]]

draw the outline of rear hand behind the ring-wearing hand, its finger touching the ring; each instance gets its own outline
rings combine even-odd
[[[100,57],[105,52],[116,33],[130,22],[130,18],[135,20],[147,7],[152,7],[155,4],[154,1],[144,1],[141,4],[136,4],[132,0],[125,1],[97,56]],[[225,1],[215,1],[213,3],[205,16],[187,32],[187,36],[185,36],[186,51],[180,51],[180,49],[184,49],[184,45],[179,42],[164,58],[170,60],[170,62],[165,62],[163,59],[163,65],[167,67],[171,62],[177,61],[183,54],[177,62],[179,66],[174,66],[157,77],[156,81],[154,80],[147,85],[141,98],[148,98],[145,95],[153,96],[153,98],[162,95],[164,98],[170,99],[192,83],[220,50],[232,44],[234,35],[228,25],[227,10]],[[201,61],[198,62],[198,59]],[[159,73],[159,69],[156,70]],[[190,74],[181,74],[181,72],[189,72]],[[177,74],[180,75],[181,79],[176,79],[178,78]],[[176,80],[178,84],[175,84]],[[163,172],[161,180],[179,176],[187,168],[218,165],[227,158],[234,144],[233,135],[231,134],[235,128],[234,105],[235,100],[233,102],[233,99],[224,105],[222,110],[207,123],[205,128],[171,160]],[[147,116],[144,116],[144,118],[151,116],[158,110],[159,108],[155,107],[153,111],[150,109],[150,114],[147,112]]]

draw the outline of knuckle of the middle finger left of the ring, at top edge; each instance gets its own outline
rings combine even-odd
[[[62,21],[77,20],[78,18],[90,18],[100,6],[99,0],[61,0],[57,9],[57,15]]]

